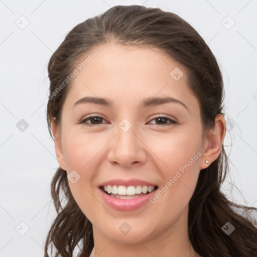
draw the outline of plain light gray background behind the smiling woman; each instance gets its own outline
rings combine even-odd
[[[217,57],[224,76],[226,117],[233,120],[225,139],[233,166],[223,190],[229,199],[257,207],[256,1],[0,0],[0,257],[43,256],[55,216],[50,181],[58,163],[46,124],[50,56],[78,23],[112,6],[132,4],[178,14]],[[26,19],[29,25],[23,28]],[[29,124],[24,132],[16,126],[21,119]]]

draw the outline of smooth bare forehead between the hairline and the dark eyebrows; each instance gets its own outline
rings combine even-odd
[[[72,80],[68,96],[73,103],[88,95],[120,100],[123,104],[156,95],[192,97],[185,68],[160,49],[117,43],[96,48],[98,54]],[[90,52],[80,63],[88,55]]]

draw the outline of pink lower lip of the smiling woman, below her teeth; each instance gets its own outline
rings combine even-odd
[[[139,196],[134,199],[119,199],[105,194],[103,190],[98,188],[98,190],[100,191],[100,195],[105,200],[105,202],[110,207],[118,211],[134,211],[141,208],[150,201],[150,198],[155,195],[157,189],[158,188],[156,188],[154,191],[147,195]]]

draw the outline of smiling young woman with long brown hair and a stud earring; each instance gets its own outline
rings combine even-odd
[[[188,23],[156,8],[113,7],[73,28],[48,72],[60,167],[45,256],[50,245],[54,256],[76,246],[80,257],[257,256],[246,217],[256,209],[220,190],[221,72]]]

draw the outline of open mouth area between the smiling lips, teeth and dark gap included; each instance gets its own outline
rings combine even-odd
[[[101,186],[100,189],[107,195],[118,199],[133,199],[150,194],[158,186]]]

